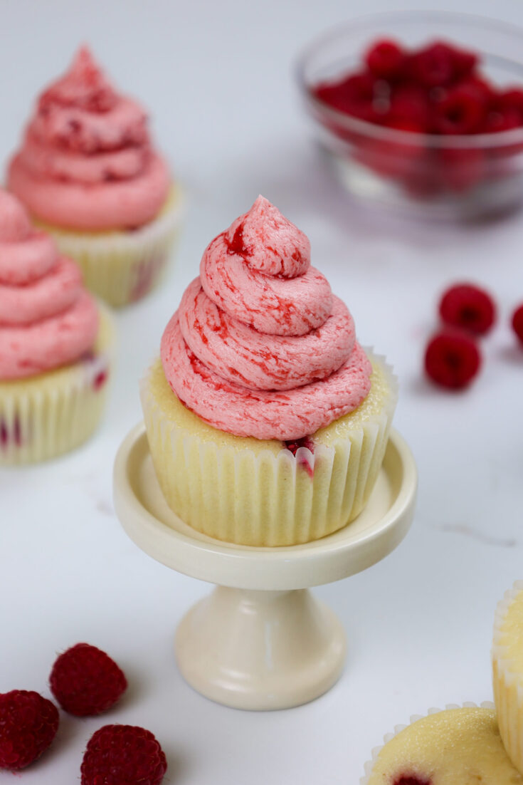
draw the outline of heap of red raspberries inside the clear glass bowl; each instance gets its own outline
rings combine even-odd
[[[350,130],[332,115],[318,115],[350,142],[354,159],[414,194],[465,192],[486,177],[499,176],[495,163],[500,155],[521,152],[521,144],[502,148],[472,144],[463,149],[423,138],[429,134],[468,137],[523,127],[523,88],[495,86],[480,71],[476,53],[449,42],[407,49],[382,38],[369,46],[354,72],[319,82],[311,92],[344,115],[411,133],[416,139],[412,143],[405,138],[393,140],[356,127]],[[416,160],[409,152],[413,144],[423,153]],[[401,165],[405,158],[408,166]]]

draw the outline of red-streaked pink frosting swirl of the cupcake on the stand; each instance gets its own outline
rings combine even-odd
[[[205,249],[161,356],[187,408],[256,439],[302,439],[354,411],[372,373],[307,236],[262,196]]]

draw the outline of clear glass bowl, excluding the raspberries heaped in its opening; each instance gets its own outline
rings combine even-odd
[[[369,46],[393,38],[406,47],[443,40],[480,57],[494,85],[523,88],[523,30],[481,16],[406,11],[362,17],[334,28],[300,56],[297,79],[321,147],[350,194],[419,217],[476,219],[523,201],[523,127],[441,136],[394,130],[332,108],[314,94],[321,82],[361,67]]]

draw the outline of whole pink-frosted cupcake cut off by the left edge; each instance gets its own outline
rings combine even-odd
[[[78,266],[0,191],[0,466],[53,458],[93,433],[111,346]]]

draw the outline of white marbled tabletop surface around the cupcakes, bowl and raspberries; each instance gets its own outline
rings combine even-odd
[[[0,473],[0,692],[49,696],[56,652],[88,641],[129,677],[104,717],[61,714],[59,736],[24,783],[71,785],[107,722],[150,728],[177,785],[354,785],[395,724],[431,706],[492,696],[496,601],[523,573],[523,352],[507,327],[523,301],[523,216],[441,228],[365,214],[332,181],[307,136],[292,64],[325,27],[367,0],[67,2],[0,0],[0,157],[20,140],[31,101],[89,42],[151,110],[159,146],[187,190],[176,265],[160,292],[118,313],[120,352],[107,417],[81,450]],[[417,3],[429,8],[429,3]],[[434,4],[435,5],[435,4]],[[519,0],[443,0],[523,23]],[[130,542],[111,504],[111,465],[140,418],[137,382],[202,250],[261,192],[311,238],[314,265],[347,301],[365,345],[401,379],[395,425],[419,466],[412,530],[376,567],[316,590],[347,627],[347,669],[329,694],[278,713],[228,710],[187,687],[173,633],[209,586],[169,571]],[[455,279],[485,284],[499,326],[468,392],[423,381],[423,342]],[[13,782],[0,773],[0,783]]]

